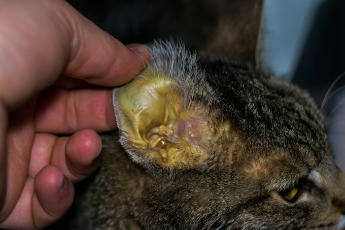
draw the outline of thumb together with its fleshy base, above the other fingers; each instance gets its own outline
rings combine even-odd
[[[11,109],[62,72],[116,86],[132,79],[149,59],[146,46],[127,48],[63,0],[6,1],[0,28],[0,99]]]

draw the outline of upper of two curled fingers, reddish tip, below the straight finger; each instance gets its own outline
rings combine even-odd
[[[100,164],[102,141],[97,132],[84,129],[70,137],[59,137],[51,164],[57,165],[72,182],[85,179]]]

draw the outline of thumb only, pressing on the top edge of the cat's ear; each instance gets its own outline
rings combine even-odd
[[[123,45],[81,14],[62,14],[71,28],[71,55],[64,74],[103,86],[118,86],[133,79],[147,65],[145,45]],[[77,22],[77,23],[76,23]]]

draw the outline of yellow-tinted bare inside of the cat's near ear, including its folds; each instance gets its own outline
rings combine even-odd
[[[168,168],[190,168],[201,164],[204,155],[193,138],[205,135],[209,127],[196,115],[205,109],[182,111],[182,97],[173,83],[145,70],[118,89],[116,116],[132,149]]]

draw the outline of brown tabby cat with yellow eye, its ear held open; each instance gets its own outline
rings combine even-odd
[[[101,166],[56,228],[344,227],[345,174],[322,113],[261,69],[253,45],[214,47],[222,31],[198,54],[173,39],[149,44],[146,69],[113,91],[119,131],[102,135]]]

